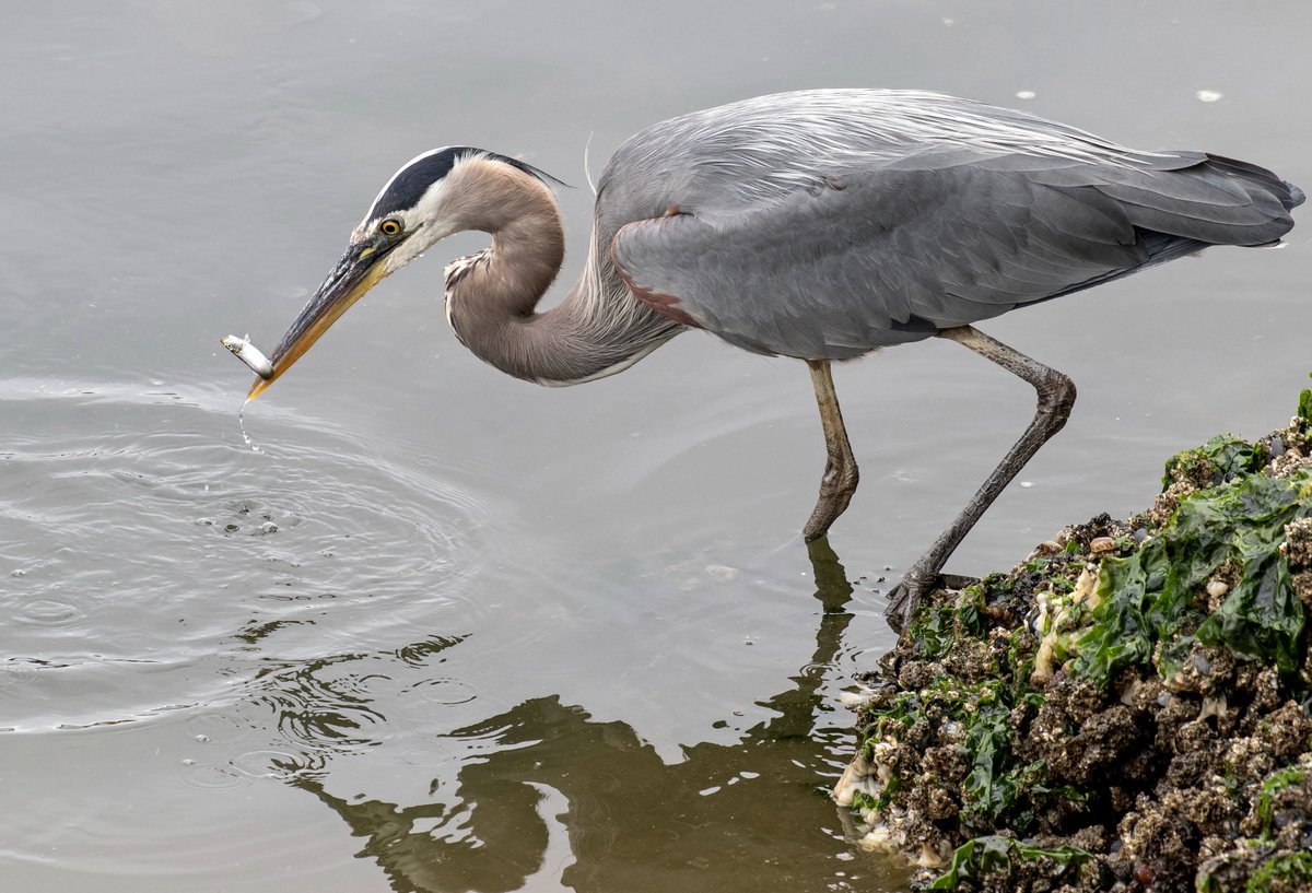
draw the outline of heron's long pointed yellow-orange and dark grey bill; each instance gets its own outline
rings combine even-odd
[[[247,400],[253,400],[264,393],[270,384],[278,380],[279,375],[291,368],[291,365],[314,346],[319,336],[327,332],[338,316],[390,273],[380,261],[396,248],[396,244],[384,245],[377,240],[367,240],[346,249],[346,253],[337,261],[337,266],[319,286],[314,298],[300,308],[291,328],[273,349],[273,355],[269,358],[273,365],[273,375],[266,379],[257,378],[247,393]]]

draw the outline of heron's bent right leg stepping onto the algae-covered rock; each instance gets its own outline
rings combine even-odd
[[[1002,456],[993,473],[988,476],[979,492],[971,497],[956,519],[939,534],[934,544],[929,547],[916,564],[911,566],[901,582],[890,593],[886,614],[890,616],[900,614],[904,620],[909,619],[920,599],[930,590],[938,577],[943,564],[956,546],[970,532],[980,515],[993,504],[997,494],[1002,492],[1013,477],[1025,467],[1035,452],[1039,451],[1048,439],[1061,430],[1067,418],[1071,417],[1071,407],[1075,405],[1075,383],[1065,375],[1048,368],[1043,363],[1030,359],[1018,350],[1008,347],[1001,341],[988,337],[983,332],[970,325],[953,329],[943,329],[938,333],[942,338],[950,338],[963,344],[975,353],[992,359],[994,363],[1023,378],[1034,386],[1039,395],[1039,405],[1034,410],[1034,420],[1021,434],[1010,452]]]

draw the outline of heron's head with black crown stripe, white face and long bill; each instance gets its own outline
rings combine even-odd
[[[523,161],[466,146],[425,152],[392,174],[365,219],[350,233],[346,252],[300,308],[269,358],[273,375],[257,378],[248,399],[257,397],[379,281],[401,269],[434,243],[463,229],[483,228],[471,219],[476,195],[468,195],[459,177],[463,163],[488,159],[509,164],[539,180],[548,176]]]

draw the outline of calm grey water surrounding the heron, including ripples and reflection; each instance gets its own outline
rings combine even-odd
[[[896,889],[821,793],[838,694],[891,641],[880,578],[1023,426],[1025,384],[950,344],[838,370],[863,481],[841,564],[812,564],[798,363],[689,334],[590,386],[506,379],[442,319],[441,262],[478,236],[252,404],[260,452],[218,338],[272,346],[420,151],[583,186],[589,135],[600,169],[648,122],[779,89],[938,89],[1308,186],[1308,34],[1304,0],[7,4],[0,888]],[[565,278],[589,202],[562,195]],[[1295,235],[985,327],[1081,397],[951,568],[1282,424],[1309,268]]]

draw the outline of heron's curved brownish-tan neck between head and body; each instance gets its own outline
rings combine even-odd
[[[447,321],[480,359],[539,384],[579,384],[623,371],[682,328],[630,294],[597,232],[579,282],[538,312],[564,260],[551,191],[488,159],[461,164],[449,180],[449,219],[492,233],[491,248],[446,269]]]

